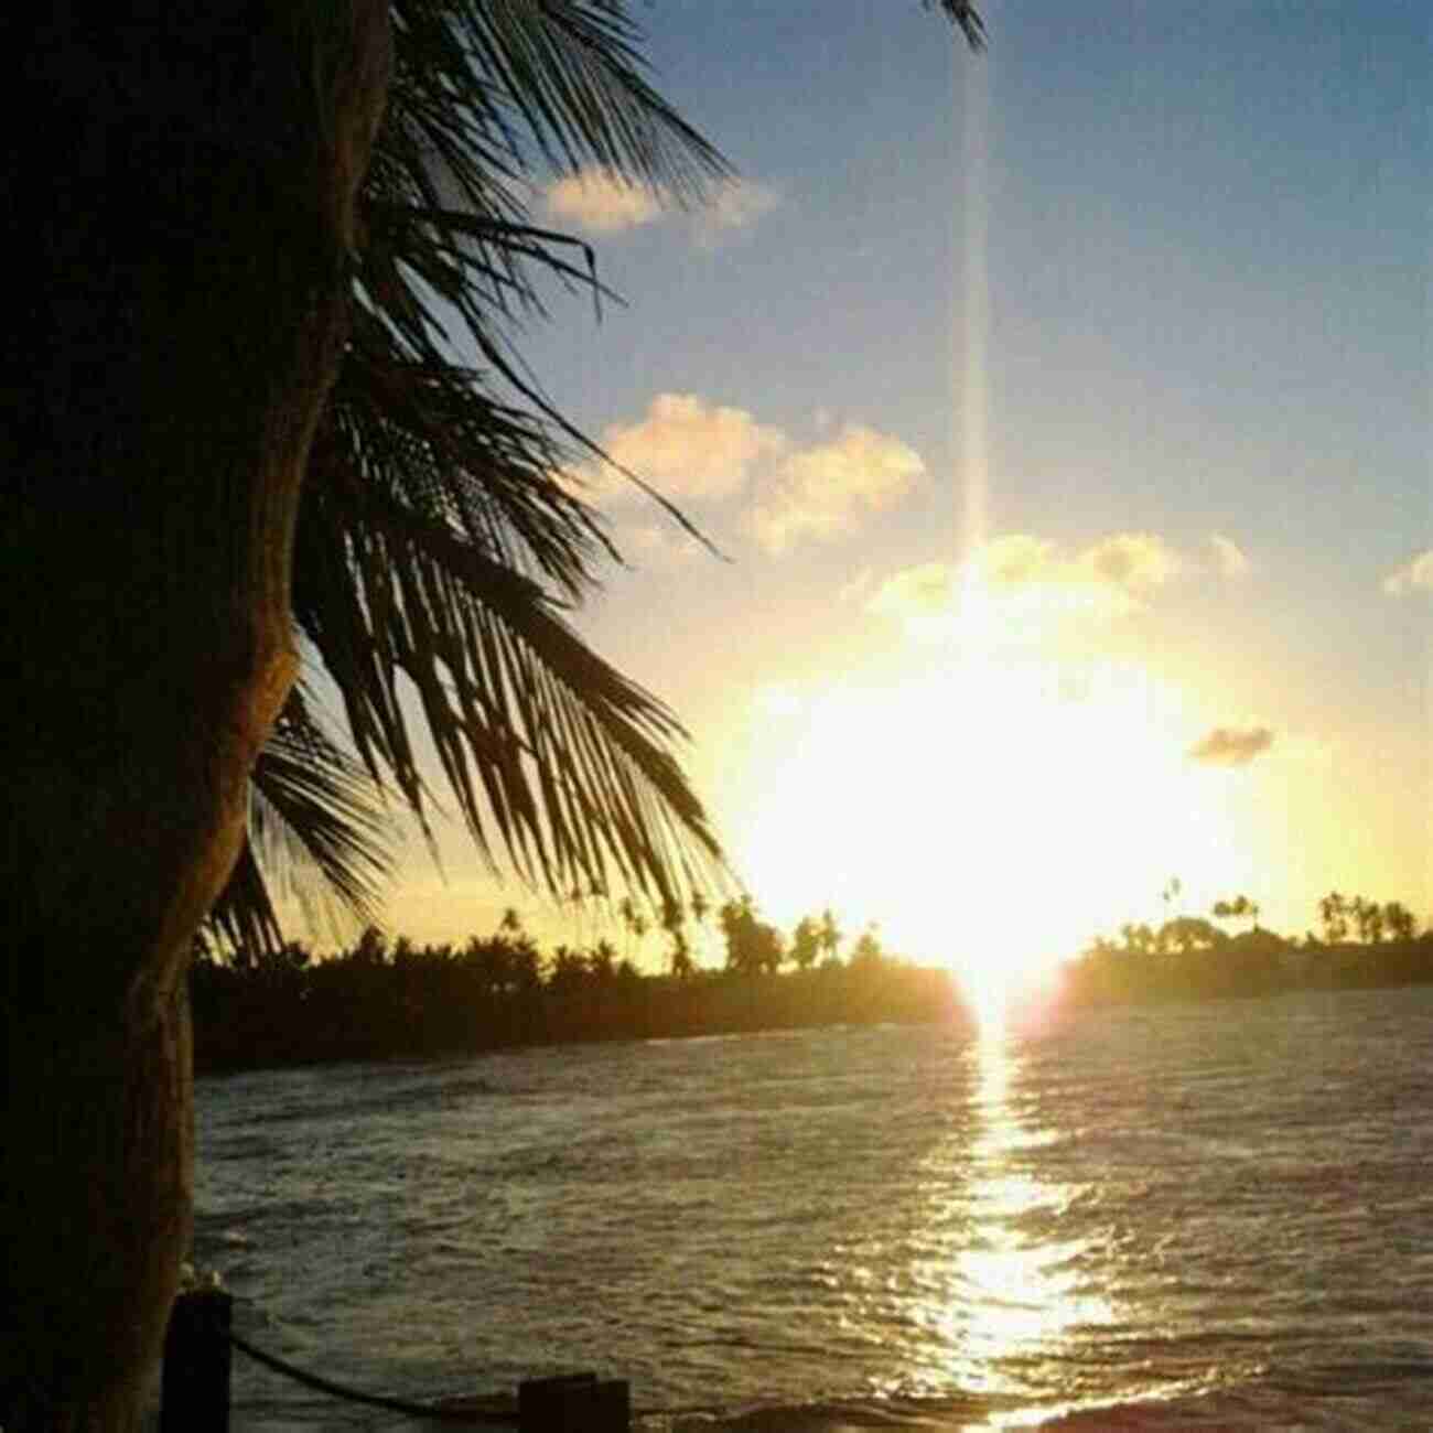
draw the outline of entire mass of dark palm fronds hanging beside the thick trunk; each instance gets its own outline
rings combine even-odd
[[[979,49],[974,9],[939,3]],[[685,203],[727,163],[651,86],[622,0],[391,0],[391,17],[353,338],[294,556],[295,620],[337,684],[353,755],[302,695],[285,709],[214,914],[254,944],[278,939],[269,878],[317,874],[371,911],[390,784],[427,828],[414,705],[494,867],[559,897],[616,877],[659,900],[721,870],[672,754],[685,732],[563,616],[618,553],[560,473],[575,451],[606,454],[514,337],[543,317],[543,285],[613,298],[586,244],[535,221],[539,171],[596,165]]]

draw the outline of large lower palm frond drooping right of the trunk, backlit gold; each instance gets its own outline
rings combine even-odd
[[[494,868],[502,857],[557,897],[615,878],[659,894],[705,884],[719,848],[672,755],[685,738],[672,714],[481,530],[416,510],[340,437],[315,451],[294,602],[373,777],[426,823],[407,691]]]

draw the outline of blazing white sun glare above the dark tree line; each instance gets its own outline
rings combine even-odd
[[[888,949],[949,964],[993,1015],[1227,833],[1141,672],[947,656],[768,708],[737,854],[775,919],[830,903],[878,920]]]

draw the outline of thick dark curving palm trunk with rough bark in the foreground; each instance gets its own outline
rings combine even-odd
[[[185,969],[294,675],[387,6],[24,9],[0,44],[0,1427],[128,1433],[189,1231]]]

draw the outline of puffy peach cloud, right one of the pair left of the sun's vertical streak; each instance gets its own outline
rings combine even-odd
[[[901,499],[926,471],[920,454],[900,438],[848,424],[831,443],[790,451],[764,484],[748,523],[771,553],[801,539],[831,539],[851,530],[863,509]]]

